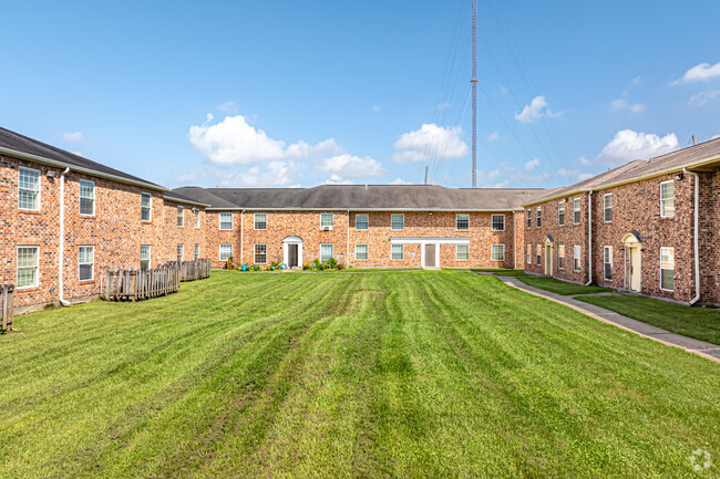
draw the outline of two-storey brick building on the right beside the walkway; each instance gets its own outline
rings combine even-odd
[[[635,160],[525,209],[525,270],[720,303],[720,138]]]

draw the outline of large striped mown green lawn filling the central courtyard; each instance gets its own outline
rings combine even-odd
[[[720,365],[470,271],[214,272],[0,336],[0,477],[717,477]]]

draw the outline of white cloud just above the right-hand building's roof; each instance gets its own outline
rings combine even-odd
[[[634,159],[648,159],[672,152],[678,147],[675,133],[658,136],[652,133],[638,133],[632,129],[621,129],[615,134],[610,143],[594,160],[580,157],[580,164],[601,164],[617,166]]]

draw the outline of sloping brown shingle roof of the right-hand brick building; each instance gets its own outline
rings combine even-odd
[[[720,163],[720,138],[710,139],[695,146],[678,149],[647,160],[636,159],[625,165],[604,171],[592,178],[578,181],[565,188],[547,190],[544,195],[526,201],[528,206],[549,199],[562,198],[577,192],[606,189],[615,185],[638,181],[644,178],[668,173],[679,171],[682,168],[699,167],[707,164]]]

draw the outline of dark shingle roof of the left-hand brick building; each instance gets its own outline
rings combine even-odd
[[[14,133],[2,127],[0,127],[0,148],[10,149],[25,155],[38,156],[51,162],[58,162],[64,166],[69,166],[71,169],[73,167],[79,167],[88,170],[89,173],[100,174],[100,176],[116,177],[119,179],[124,179],[131,183],[142,183],[160,190],[166,190],[165,187],[152,181],[147,181],[119,169],[101,165],[100,163],[93,162],[79,155],[74,155],[70,152],[65,152],[64,149],[60,149],[52,145],[48,145],[45,143],[39,142],[24,135],[20,135],[19,133]]]

